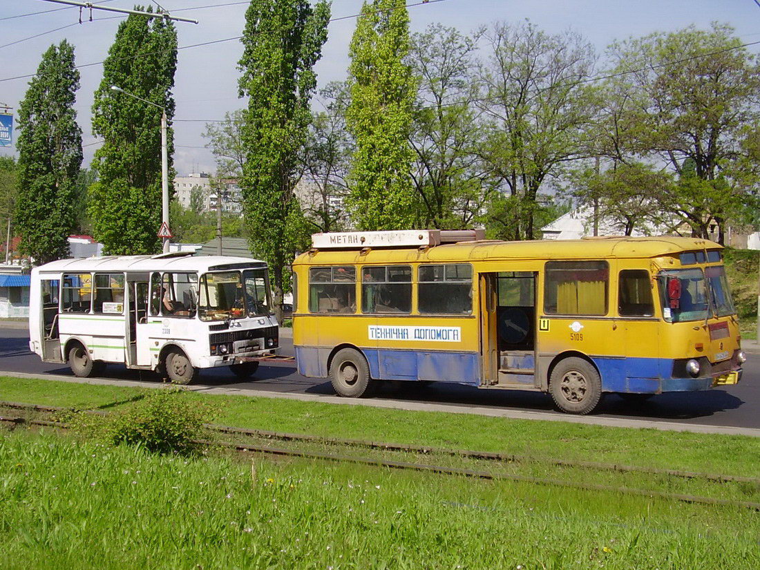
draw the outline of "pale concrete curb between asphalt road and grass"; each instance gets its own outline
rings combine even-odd
[[[57,380],[59,382],[72,382],[75,384],[127,386],[131,388],[163,388],[164,386],[164,384],[161,382],[112,380],[110,378],[77,378],[73,376],[55,374],[41,375],[27,374],[25,372],[0,371],[0,375],[11,376],[14,378],[34,378],[37,380]],[[570,416],[549,412],[510,410],[499,407],[483,407],[466,404],[432,404],[428,402],[398,400],[362,400],[323,394],[291,394],[288,392],[276,391],[245,391],[241,390],[240,388],[215,388],[214,386],[207,385],[188,386],[185,389],[202,394],[217,394],[225,396],[283,398],[286,400],[321,402],[323,404],[341,404],[344,406],[366,406],[420,412],[467,413],[476,416],[503,417],[511,420],[543,420],[549,422],[583,423],[590,426],[657,429],[659,431],[669,432],[711,433],[719,435],[749,435],[750,437],[760,438],[760,429],[742,428],[735,426],[708,426],[706,424],[698,423],[653,422],[648,420],[632,420],[616,417]]]

